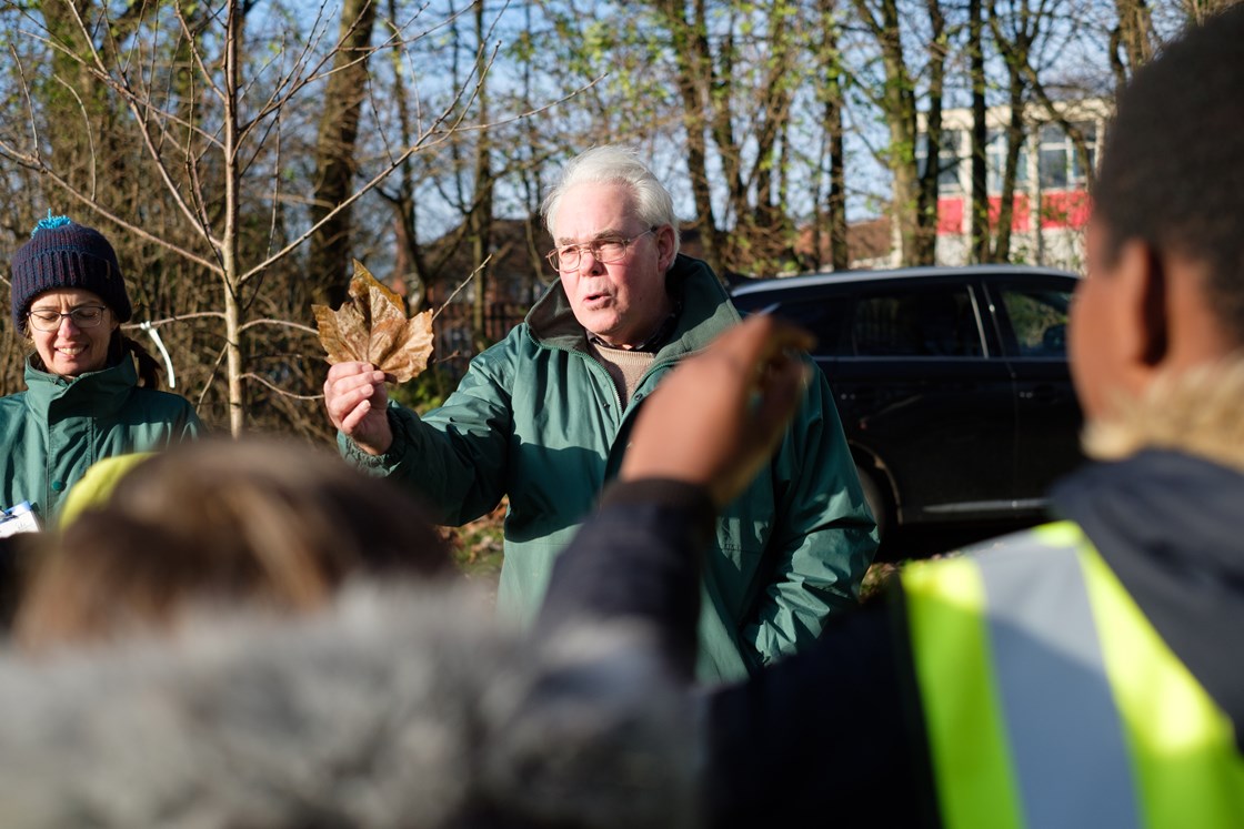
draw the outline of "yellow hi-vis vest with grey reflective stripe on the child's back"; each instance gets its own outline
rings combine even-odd
[[[1076,524],[902,584],[943,825],[1244,828],[1230,720]]]

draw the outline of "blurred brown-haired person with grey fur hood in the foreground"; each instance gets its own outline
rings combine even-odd
[[[37,657],[0,650],[2,827],[693,825],[693,703],[651,631],[498,624],[337,456],[178,446],[62,533]]]

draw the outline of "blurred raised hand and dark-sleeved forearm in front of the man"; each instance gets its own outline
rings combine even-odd
[[[765,465],[799,401],[805,332],[753,317],[646,403],[618,481],[557,559],[542,631],[583,616],[652,621],[678,670],[695,649],[699,556],[715,511]]]

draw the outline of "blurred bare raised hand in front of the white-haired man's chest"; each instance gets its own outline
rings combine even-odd
[[[765,314],[722,334],[643,404],[618,477],[687,481],[718,507],[733,501],[781,439],[807,379],[792,352],[812,343]]]

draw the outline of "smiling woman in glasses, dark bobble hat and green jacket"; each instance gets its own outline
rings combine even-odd
[[[29,503],[53,522],[95,461],[203,431],[194,406],[159,392],[156,360],[121,333],[131,313],[108,240],[49,211],[12,257],[12,322],[34,353],[27,390],[0,398],[0,508]]]

